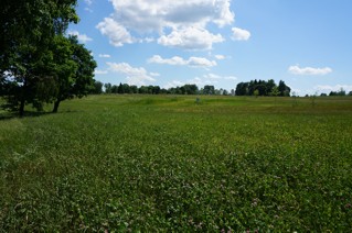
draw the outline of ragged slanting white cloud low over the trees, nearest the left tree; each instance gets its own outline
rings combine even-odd
[[[126,75],[126,80],[129,85],[146,85],[147,82],[156,81],[152,75],[156,73],[148,73],[143,67],[132,67],[127,63],[106,63],[109,70]]]

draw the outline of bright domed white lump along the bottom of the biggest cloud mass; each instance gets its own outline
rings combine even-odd
[[[212,49],[214,43],[221,43],[224,38],[221,34],[212,34],[201,27],[185,27],[174,30],[169,35],[162,35],[158,43],[164,46],[183,49]]]

